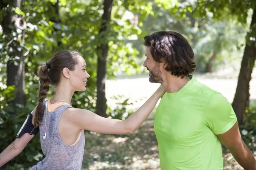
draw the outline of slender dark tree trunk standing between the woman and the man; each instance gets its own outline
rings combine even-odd
[[[104,34],[104,40],[97,47],[98,51],[98,68],[97,68],[97,106],[96,113],[106,117],[107,99],[105,95],[105,82],[107,79],[107,56],[108,56],[108,36],[105,31],[109,30],[109,21],[111,20],[113,0],[104,0],[104,13],[102,15],[102,24],[99,31],[99,36]]]

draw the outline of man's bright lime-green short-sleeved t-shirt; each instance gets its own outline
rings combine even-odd
[[[194,77],[178,92],[166,92],[154,121],[161,170],[222,170],[217,135],[236,121],[227,99]]]

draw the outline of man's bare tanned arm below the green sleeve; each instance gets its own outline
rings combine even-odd
[[[226,133],[218,135],[218,138],[245,170],[256,170],[256,160],[246,144],[242,141],[237,122]]]

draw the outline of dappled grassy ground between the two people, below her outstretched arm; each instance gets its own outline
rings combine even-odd
[[[160,170],[154,121],[131,135],[85,133],[83,170]]]

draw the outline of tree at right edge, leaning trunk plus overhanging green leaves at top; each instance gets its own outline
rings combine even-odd
[[[239,8],[237,8],[239,6]],[[184,9],[184,6],[177,7]],[[193,4],[185,6],[185,9],[192,10],[195,17],[206,17],[207,11],[212,13],[215,20],[236,20],[246,26],[250,10],[253,10],[253,18],[250,23],[250,30],[247,32],[244,55],[241,62],[241,69],[238,78],[238,85],[233,101],[233,109],[240,124],[244,123],[245,110],[249,103],[249,83],[251,73],[256,59],[256,1],[255,0],[197,0]]]

